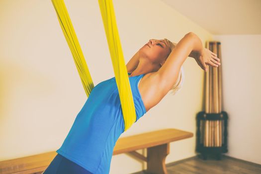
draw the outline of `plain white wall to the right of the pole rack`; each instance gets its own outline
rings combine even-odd
[[[261,35],[215,35],[221,42],[228,156],[261,164]]]

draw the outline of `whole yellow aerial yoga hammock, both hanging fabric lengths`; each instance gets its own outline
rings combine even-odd
[[[124,131],[126,131],[136,121],[136,111],[134,106],[134,100],[132,97],[128,72],[121,49],[112,0],[98,1],[110,50],[115,80],[119,91],[119,97],[125,125]],[[77,39],[64,0],[52,0],[52,3],[56,10],[57,17],[59,19],[67,43],[71,49],[74,62],[76,64],[78,73],[80,75],[82,84],[88,97],[94,85],[90,77],[90,73],[82,49]]]

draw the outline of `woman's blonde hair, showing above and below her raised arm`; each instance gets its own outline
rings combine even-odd
[[[171,49],[171,51],[174,49],[175,45],[168,39],[164,38],[164,41],[166,42],[166,44],[168,45],[168,47]],[[174,84],[174,86],[171,88],[170,91],[172,91],[171,93],[174,95],[183,85],[183,81],[184,81],[184,70],[183,70],[183,65],[180,68],[180,71],[178,73],[178,77],[177,80]]]

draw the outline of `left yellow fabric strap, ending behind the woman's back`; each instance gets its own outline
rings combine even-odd
[[[66,9],[64,0],[52,0],[52,2],[88,97],[94,85],[90,77],[84,54],[77,39],[72,21]]]

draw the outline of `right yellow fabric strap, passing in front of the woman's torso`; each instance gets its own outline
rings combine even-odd
[[[103,20],[111,61],[119,91],[121,108],[126,131],[136,121],[136,111],[132,97],[129,77],[118,34],[112,0],[98,0]]]

